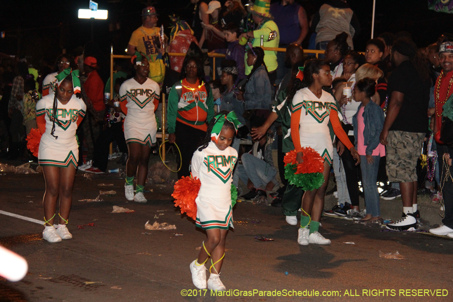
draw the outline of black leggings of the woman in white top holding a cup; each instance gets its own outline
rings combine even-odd
[[[347,125],[342,123],[344,132],[348,134],[349,130],[353,130],[352,125]],[[348,135],[349,140],[352,144],[354,144],[354,136]],[[355,160],[352,157],[349,150],[344,150],[343,154],[341,155],[341,161],[343,162],[344,173],[346,175],[346,186],[349,192],[349,198],[351,199],[351,204],[353,206],[359,206],[359,188],[358,188],[358,173],[359,173],[359,166],[355,165]]]

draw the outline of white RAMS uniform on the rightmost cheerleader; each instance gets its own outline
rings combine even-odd
[[[334,110],[338,114],[335,99],[324,90],[318,99],[310,89],[304,88],[297,91],[292,99],[292,113],[297,110],[300,110],[300,146],[312,147],[332,164],[333,145],[328,124],[330,111]]]

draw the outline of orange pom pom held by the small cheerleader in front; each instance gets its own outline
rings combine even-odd
[[[183,176],[175,183],[175,191],[172,196],[175,198],[175,206],[181,208],[181,213],[195,220],[197,218],[197,204],[195,198],[198,196],[201,182],[198,178]]]

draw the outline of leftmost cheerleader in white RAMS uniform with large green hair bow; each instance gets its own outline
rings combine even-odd
[[[87,106],[95,112],[91,103],[87,102],[88,97],[78,75],[79,70],[63,70],[56,76],[58,89],[55,94],[43,97],[36,104],[36,123],[42,133],[38,162],[46,183],[42,237],[51,243],[72,238],[66,224],[72,203],[75,168],[79,161],[75,131],[85,116]],[[80,94],[82,99],[76,94]],[[58,197],[59,224],[55,230],[53,221]]]

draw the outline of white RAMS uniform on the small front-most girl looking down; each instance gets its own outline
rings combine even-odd
[[[203,230],[228,230],[233,226],[231,184],[238,152],[228,147],[221,151],[213,141],[192,157],[192,176],[201,182],[197,204],[196,226]]]

